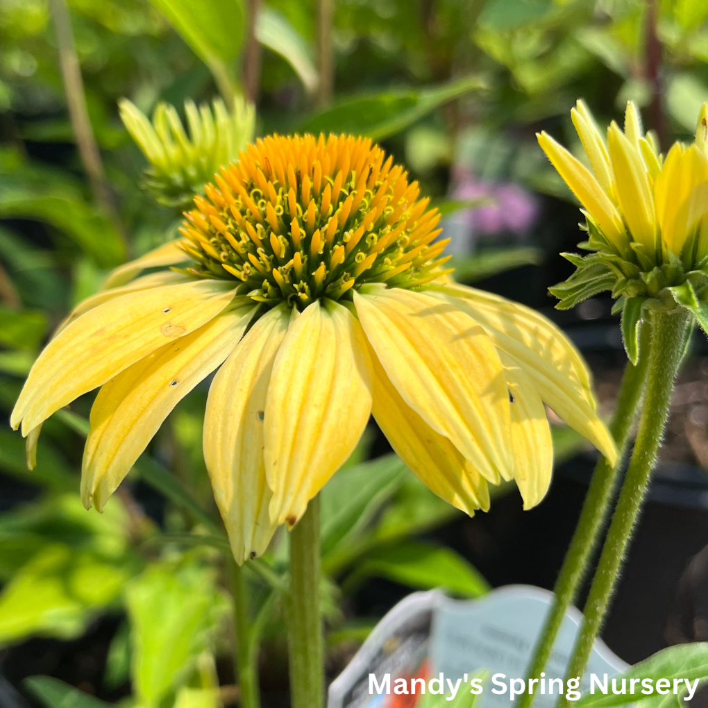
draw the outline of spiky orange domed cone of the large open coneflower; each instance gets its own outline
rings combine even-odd
[[[185,214],[184,272],[236,280],[236,292],[304,309],[365,283],[413,288],[448,271],[433,243],[440,214],[371,140],[259,139],[222,167]]]

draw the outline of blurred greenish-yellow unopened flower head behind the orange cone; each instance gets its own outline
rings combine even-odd
[[[123,125],[150,163],[142,186],[159,203],[183,209],[195,194],[203,193],[219,166],[235,160],[251,142],[256,122],[253,105],[242,98],[234,99],[231,110],[220,98],[211,106],[185,101],[187,130],[169,103],[156,105],[152,123],[127,98],[118,108]]]

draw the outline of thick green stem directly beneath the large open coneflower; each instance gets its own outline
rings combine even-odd
[[[292,708],[324,706],[319,576],[319,497],[315,497],[290,534],[288,646]]]

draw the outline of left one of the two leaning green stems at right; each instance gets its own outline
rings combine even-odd
[[[641,326],[641,341],[639,345],[639,361],[636,366],[627,362],[619,385],[615,413],[610,423],[610,433],[617,442],[617,464],[610,467],[605,457],[598,460],[595,465],[592,479],[583,508],[578,519],[578,525],[573,533],[571,544],[563,560],[563,565],[556,579],[554,587],[554,601],[549,609],[546,621],[537,642],[534,653],[527,670],[528,678],[539,678],[546,663],[551,656],[553,645],[559,629],[566,615],[566,610],[573,603],[578,593],[578,588],[585,577],[586,569],[598,541],[600,530],[607,516],[607,509],[612,499],[612,490],[615,489],[617,473],[622,464],[622,457],[627,450],[629,433],[632,430],[636,411],[644,392],[644,379],[646,377],[647,350],[649,348],[649,324]],[[523,695],[520,708],[528,708],[534,698],[533,694]]]

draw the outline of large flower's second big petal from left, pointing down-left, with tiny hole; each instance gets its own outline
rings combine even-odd
[[[232,353],[256,309],[249,304],[218,314],[101,387],[81,469],[86,508],[103,509],[172,409]]]

